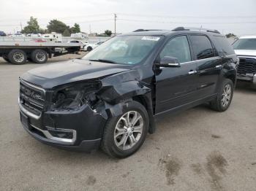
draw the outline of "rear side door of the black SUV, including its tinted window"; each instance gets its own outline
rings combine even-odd
[[[222,58],[217,55],[214,44],[206,35],[189,35],[197,63],[198,98],[206,98],[216,92],[217,81],[222,70]]]

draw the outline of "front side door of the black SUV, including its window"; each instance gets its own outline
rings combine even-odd
[[[156,114],[186,106],[197,100],[197,64],[192,61],[187,36],[175,36],[165,45],[157,60],[171,56],[179,68],[160,68],[156,75]]]

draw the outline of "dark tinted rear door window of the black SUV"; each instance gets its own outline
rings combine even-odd
[[[214,57],[214,50],[211,46],[210,40],[203,35],[190,36],[192,48],[197,60]]]

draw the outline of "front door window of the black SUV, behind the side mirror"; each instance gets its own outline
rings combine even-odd
[[[161,59],[165,56],[175,57],[180,63],[191,61],[187,36],[177,36],[171,39],[160,53]]]

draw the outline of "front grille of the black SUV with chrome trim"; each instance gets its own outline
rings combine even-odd
[[[45,92],[39,87],[20,81],[20,104],[29,112],[40,115],[45,109]]]

